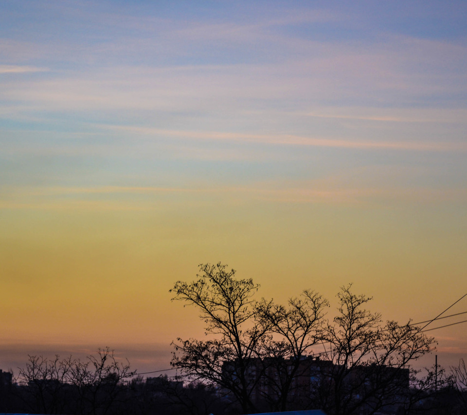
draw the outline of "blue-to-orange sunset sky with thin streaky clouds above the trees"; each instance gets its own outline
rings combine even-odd
[[[0,368],[106,346],[170,367],[204,334],[169,290],[206,262],[330,316],[348,283],[383,319],[448,308],[466,21],[465,1],[2,0]],[[466,327],[430,332],[438,363]]]

